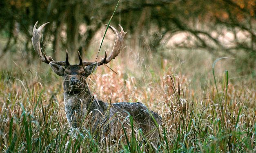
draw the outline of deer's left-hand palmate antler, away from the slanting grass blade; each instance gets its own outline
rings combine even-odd
[[[37,52],[38,56],[40,57],[40,60],[42,62],[45,62],[47,64],[49,64],[50,62],[52,63],[55,63],[55,64],[58,64],[60,66],[67,66],[67,63],[66,61],[54,61],[52,59],[52,57],[50,56],[46,56],[45,53],[44,55],[42,54],[42,48],[40,46],[40,39],[42,37],[42,30],[44,29],[44,27],[50,22],[47,22],[45,24],[42,24],[38,29],[36,29],[37,27],[37,24],[38,24],[38,21],[36,22],[36,24],[34,25],[34,28],[33,28],[33,33],[32,33],[32,38],[31,38],[31,41],[32,41],[32,45],[33,45],[33,48],[34,50]],[[68,59],[68,57],[67,57]]]

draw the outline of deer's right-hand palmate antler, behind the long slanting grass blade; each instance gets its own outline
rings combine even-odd
[[[118,25],[120,26],[120,24],[118,24]],[[116,40],[115,40],[114,47],[112,49],[111,54],[109,55],[108,58],[106,58],[107,57],[107,53],[105,51],[105,58],[102,59],[102,61],[99,62],[99,66],[102,65],[102,64],[107,64],[112,59],[115,59],[117,57],[117,55],[120,53],[120,51],[122,49],[122,44],[125,41],[125,34],[127,32],[124,32],[122,26],[120,26],[120,29],[121,29],[120,32],[117,31],[116,28],[114,28],[113,26],[109,26],[109,28],[111,28],[111,30],[115,33]]]

